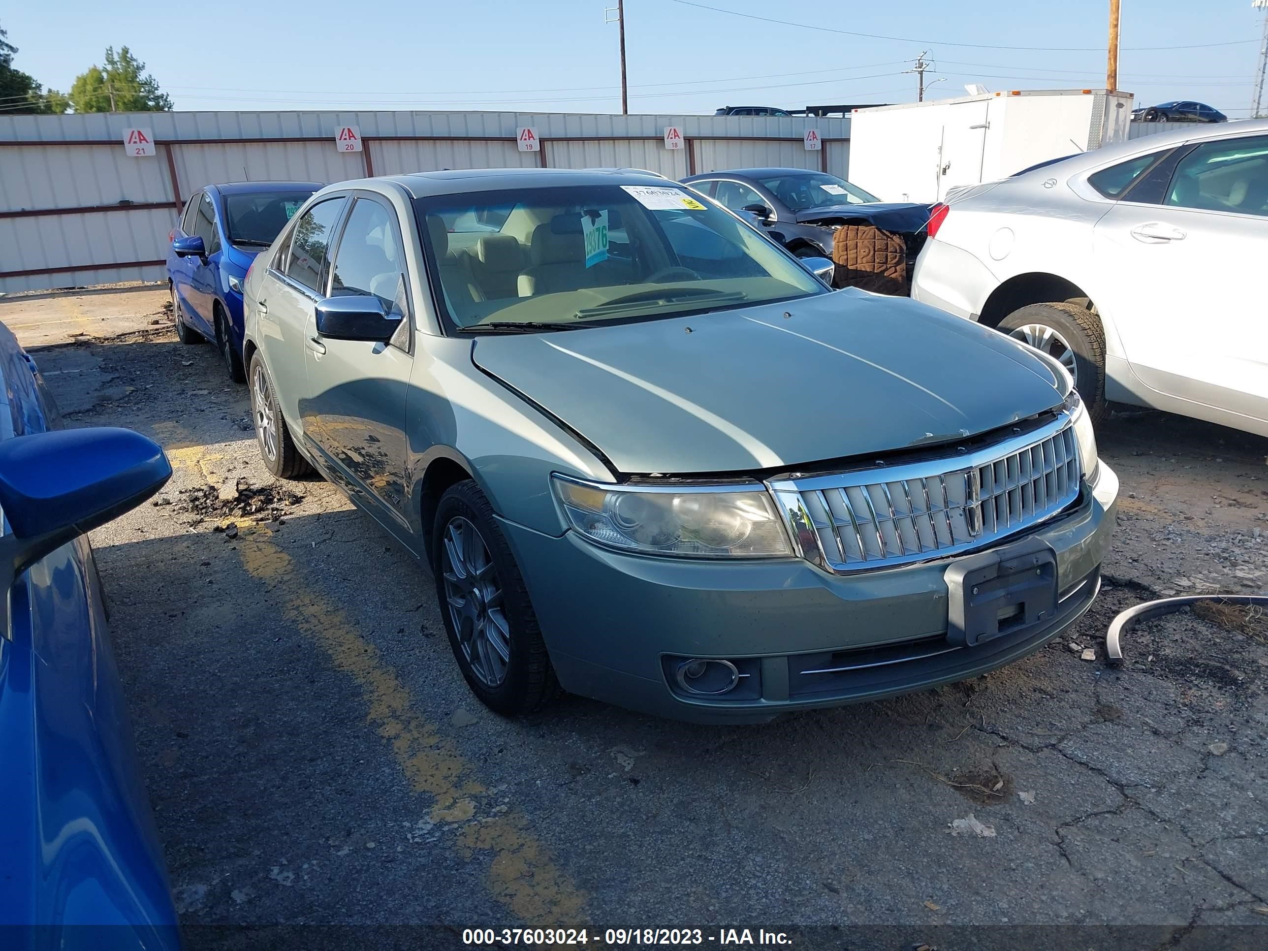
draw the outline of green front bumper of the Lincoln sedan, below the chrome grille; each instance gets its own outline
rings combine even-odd
[[[801,559],[647,558],[572,531],[502,529],[566,690],[659,716],[744,723],[948,683],[1038,649],[1096,597],[1117,495],[1102,463],[1094,489],[1030,533],[1056,557],[1063,600],[1050,624],[954,649],[943,574],[956,558],[843,576]],[[728,659],[747,676],[728,695],[687,696],[671,675],[681,658]]]

